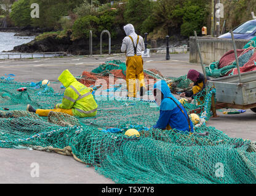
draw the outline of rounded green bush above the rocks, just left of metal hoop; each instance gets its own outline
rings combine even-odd
[[[100,20],[92,15],[87,15],[74,21],[73,25],[73,39],[86,38],[89,39],[89,32],[98,32],[98,24]],[[95,35],[95,34],[94,34]]]

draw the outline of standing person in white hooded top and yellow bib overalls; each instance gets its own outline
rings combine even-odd
[[[143,74],[142,51],[145,50],[145,44],[142,36],[135,33],[134,26],[128,24],[124,26],[126,37],[122,40],[122,53],[126,52],[126,83],[128,97],[136,97],[136,80],[140,86],[140,96],[145,94],[145,80]]]

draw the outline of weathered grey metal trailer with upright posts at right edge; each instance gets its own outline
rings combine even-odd
[[[204,72],[204,77],[206,77],[205,65],[202,62],[201,51],[199,48],[199,40],[197,39],[196,32],[194,32],[194,34],[202,70]],[[256,113],[256,71],[241,74],[233,31],[231,31],[231,36],[238,74],[207,81],[209,86],[213,86],[216,89],[216,102],[212,99],[212,111],[214,117],[217,116],[216,110],[221,108],[251,109]]]

